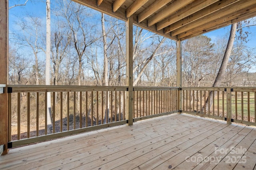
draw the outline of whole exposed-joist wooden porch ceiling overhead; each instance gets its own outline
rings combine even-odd
[[[256,0],[73,0],[146,30],[186,40],[256,16]]]

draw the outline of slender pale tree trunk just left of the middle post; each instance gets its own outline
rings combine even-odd
[[[101,13],[101,24],[102,24],[102,35],[103,35],[103,47],[104,47],[104,71],[103,71],[103,84],[108,86],[108,55],[107,55],[107,38],[106,38],[106,29],[105,29],[105,17],[104,14]],[[104,123],[109,118],[109,97],[108,91],[106,91],[106,111],[104,116]]]

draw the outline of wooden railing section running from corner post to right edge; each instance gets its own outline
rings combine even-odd
[[[181,93],[182,113],[256,126],[256,88],[182,87]]]

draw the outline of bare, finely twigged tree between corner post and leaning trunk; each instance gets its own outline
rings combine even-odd
[[[214,44],[206,36],[197,36],[187,40],[182,48],[183,79],[185,86],[199,87],[202,80],[212,73]]]

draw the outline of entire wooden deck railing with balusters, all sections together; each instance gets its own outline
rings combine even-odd
[[[127,91],[128,87],[8,85],[8,147],[126,124]],[[208,107],[210,91],[215,95]],[[256,126],[256,88],[133,87],[132,105],[133,121],[188,113]]]

